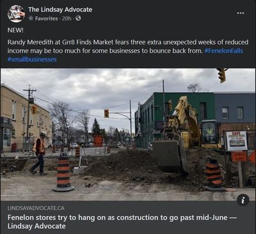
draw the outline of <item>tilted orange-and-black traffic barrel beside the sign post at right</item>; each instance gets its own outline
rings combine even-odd
[[[216,159],[210,159],[206,165],[204,173],[208,183],[205,186],[209,190],[222,190],[223,177],[221,176],[220,165]]]

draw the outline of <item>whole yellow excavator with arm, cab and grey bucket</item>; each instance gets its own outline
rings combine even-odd
[[[172,101],[169,102],[172,109]],[[201,129],[195,108],[182,96],[172,115],[166,117],[162,137],[152,142],[153,156],[163,172],[187,173],[186,149],[221,148],[219,143],[218,122],[204,120]]]

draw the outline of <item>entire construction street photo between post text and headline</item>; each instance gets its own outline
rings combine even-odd
[[[254,69],[1,77],[1,200],[255,201]]]

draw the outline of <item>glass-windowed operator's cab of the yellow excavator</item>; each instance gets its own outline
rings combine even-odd
[[[221,148],[218,122],[207,120],[201,122],[201,135],[203,148]]]

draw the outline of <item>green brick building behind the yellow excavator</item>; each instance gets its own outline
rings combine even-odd
[[[164,94],[166,115],[169,113],[168,101],[172,100],[171,112],[173,112],[181,96],[188,96],[188,102],[196,108],[198,122],[215,118],[213,92],[166,92]],[[135,112],[135,142],[138,147],[147,147],[148,142],[161,137],[163,113],[162,92],[154,92],[142,105],[138,103],[138,110]]]

